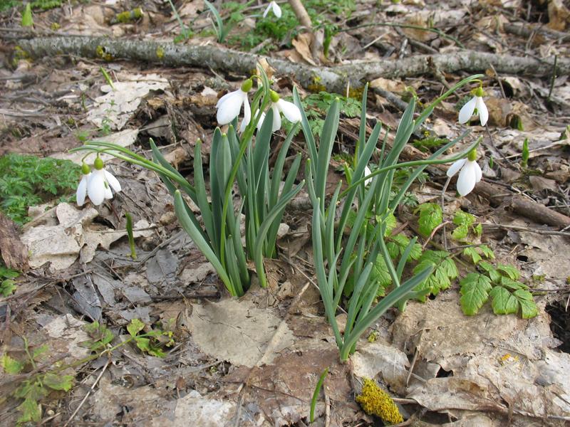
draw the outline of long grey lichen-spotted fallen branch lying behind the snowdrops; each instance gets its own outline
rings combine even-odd
[[[497,73],[544,76],[551,75],[554,59],[536,60],[477,51],[457,51],[438,55],[419,55],[400,60],[358,62],[336,67],[314,67],[291,63],[280,58],[267,58],[252,53],[232,51],[217,46],[189,46],[170,42],[113,39],[105,37],[44,37],[22,39],[19,46],[31,58],[68,54],[105,60],[140,60],[145,63],[194,67],[211,67],[249,75],[259,60],[265,58],[278,73],[294,75],[304,87],[318,83],[328,91],[343,93],[347,83],[358,88],[378,77],[397,78],[429,75],[434,65],[445,73],[460,70],[480,72],[491,65]],[[570,60],[559,59],[558,75],[570,73]]]

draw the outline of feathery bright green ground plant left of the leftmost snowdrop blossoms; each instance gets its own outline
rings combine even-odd
[[[68,160],[6,154],[0,157],[0,209],[24,224],[29,221],[29,206],[71,199],[80,169]]]

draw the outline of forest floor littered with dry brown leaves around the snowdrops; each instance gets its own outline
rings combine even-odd
[[[266,2],[214,2],[229,28],[219,43],[203,0],[175,1],[176,14],[159,0],[36,0],[33,28],[21,26],[19,1],[0,0],[0,424],[306,426],[328,368],[318,426],[382,425],[356,403],[365,378],[388,391],[402,426],[569,425],[567,2],[305,0],[311,28],[279,4],[276,19],[262,16]],[[118,16],[125,11],[132,16]],[[105,47],[101,36],[118,44]],[[149,42],[170,47],[133,53]],[[174,42],[197,56],[176,63]],[[457,123],[475,88],[466,86],[403,154],[424,158],[469,127],[455,151],[482,136],[482,181],[459,197],[452,180],[442,198],[446,167],[428,167],[390,237],[418,236],[422,256],[439,251],[457,273],[425,302],[389,310],[344,364],[316,286],[305,190],[286,210],[278,257],[266,260],[269,287],[252,284],[239,299],[181,231],[154,172],[105,158],[123,191],[100,206],[75,203],[84,154],[69,150],[90,139],[151,158],[152,138],[192,181],[217,100],[258,60],[281,97],[298,88],[317,134],[341,100],[329,194],[358,139],[363,83],[368,125],[380,120],[390,146],[410,90],[420,110],[462,78],[485,75],[485,127]],[[275,151],[285,137],[274,134]],[[308,157],[302,132],[286,164],[298,152]],[[437,216],[441,199],[426,236],[422,212]],[[472,218],[465,233],[461,218]],[[528,289],[530,312],[497,315],[489,299],[465,315],[461,283],[477,271]]]

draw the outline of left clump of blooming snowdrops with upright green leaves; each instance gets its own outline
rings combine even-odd
[[[283,112],[286,119],[296,122],[299,122],[301,115],[295,105],[281,100],[270,89],[264,73],[258,79],[257,90],[252,90],[254,82],[248,79],[241,88],[224,95],[218,102],[218,122],[229,126],[226,132],[219,127],[214,131],[209,153],[209,191],[203,173],[202,143],[199,141],[194,149],[192,183],[167,162],[152,139],[153,160],[109,142],[88,142],[76,149],[111,154],[157,172],[174,196],[175,213],[180,225],[212,263],[230,295],[237,297],[244,294],[251,282],[248,260],[254,261],[261,287],[266,286],[264,257],[276,256],[277,232],[286,204],[304,186],[303,181],[295,183],[301,154],[292,162],[284,182],[281,180],[286,154],[296,133],[295,126],[279,149],[273,171],[269,170],[271,137],[276,124],[281,123],[279,114]],[[251,106],[250,92],[254,92]],[[244,119],[239,127],[240,132],[237,132],[237,116],[242,107]],[[112,196],[110,188],[120,191],[120,186],[115,186],[115,181],[103,168],[99,157],[95,160],[95,172],[91,175],[89,168],[83,167],[81,194],[78,189],[81,201],[87,192],[88,196],[95,196],[95,200],[92,200],[94,204],[100,204],[103,199]],[[96,182],[92,175],[97,177]],[[232,195],[234,185],[238,189],[237,197]],[[89,191],[91,188],[93,190]],[[187,199],[198,206],[204,226],[190,209]],[[245,218],[244,236],[242,214]]]

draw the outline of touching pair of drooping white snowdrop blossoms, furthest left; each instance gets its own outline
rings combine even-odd
[[[95,172],[91,172],[88,165],[81,166],[81,181],[77,187],[76,199],[78,206],[83,206],[86,196],[95,206],[103,203],[105,199],[113,199],[113,191],[118,193],[121,186],[118,179],[105,170],[105,164],[100,157],[93,164]]]

